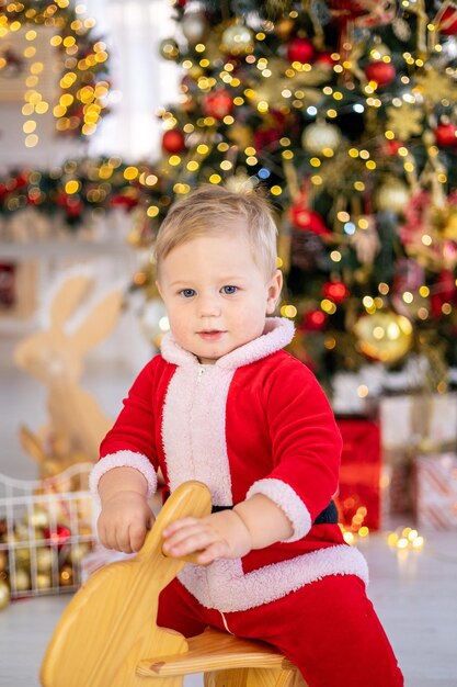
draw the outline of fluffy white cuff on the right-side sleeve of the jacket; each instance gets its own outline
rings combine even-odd
[[[311,516],[308,508],[297,492],[286,482],[274,478],[259,480],[254,482],[245,497],[250,498],[254,494],[263,494],[270,498],[290,520],[294,531],[292,537],[284,540],[285,543],[298,541],[311,529]]]

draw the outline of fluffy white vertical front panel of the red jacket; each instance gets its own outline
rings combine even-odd
[[[216,506],[231,506],[226,444],[227,394],[235,370],[179,367],[167,390],[162,438],[170,489],[204,482]]]

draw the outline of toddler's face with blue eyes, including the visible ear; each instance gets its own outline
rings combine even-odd
[[[204,364],[261,336],[281,286],[281,272],[267,279],[237,229],[193,238],[160,264],[159,290],[173,337]]]

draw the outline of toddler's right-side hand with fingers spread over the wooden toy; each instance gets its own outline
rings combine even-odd
[[[216,559],[239,559],[252,549],[251,534],[235,510],[206,518],[183,518],[164,528],[163,552],[179,559],[196,553],[201,565]]]

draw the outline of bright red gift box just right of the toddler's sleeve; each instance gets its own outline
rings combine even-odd
[[[381,446],[375,420],[336,418],[343,438],[340,488],[336,497],[340,521],[354,531],[380,525]]]

